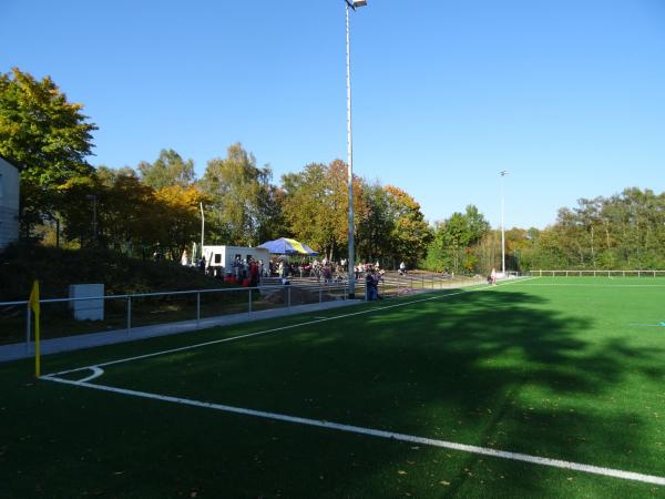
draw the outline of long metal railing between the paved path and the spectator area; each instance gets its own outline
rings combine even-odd
[[[386,276],[379,282],[378,294],[382,298],[389,298],[423,291],[439,291],[454,287],[462,281],[466,282],[469,279],[470,277],[467,276],[456,276],[454,278],[451,278],[450,276],[418,274]],[[356,292],[358,298],[367,301],[365,279],[358,279]],[[221,296],[215,297],[215,294],[219,294]],[[245,298],[242,297],[244,294],[246,294]],[[232,295],[235,296],[232,297]],[[277,301],[269,302],[268,299],[256,299],[258,295],[264,298],[276,297]],[[290,285],[265,285],[258,287],[135,293],[81,298],[45,298],[40,299],[40,306],[42,308],[42,333],[44,329],[49,330],[50,328],[50,337],[64,337],[82,333],[100,333],[104,332],[104,329],[106,329],[106,332],[124,330],[129,336],[133,328],[144,325],[157,326],[160,324],[163,325],[180,320],[195,319],[196,326],[198,326],[203,318],[208,319],[234,313],[246,313],[252,315],[259,309],[290,308],[294,305],[320,304],[323,302],[335,299],[347,299],[348,295],[348,282],[308,282],[291,283]],[[174,304],[174,301],[178,298],[186,301],[182,309],[177,308]],[[74,302],[100,299],[104,302],[103,320],[85,322],[82,325],[80,320],[73,319],[70,312],[63,309],[59,312],[53,312],[52,309],[51,314],[53,315],[51,317],[49,317],[49,313],[44,314],[44,312],[48,310],[49,305],[68,304],[71,307],[71,304]],[[154,316],[147,319],[145,314],[145,302],[150,299],[161,302],[147,307],[150,310],[147,315]],[[124,304],[122,302],[124,302]],[[245,305],[243,305],[243,303]],[[207,307],[205,312],[208,313],[205,317],[204,305]],[[177,316],[176,319],[174,319],[172,315],[172,320],[168,320],[168,312],[164,313],[164,310],[161,309],[162,307],[168,308],[168,306],[176,308],[175,310],[171,310],[171,314]],[[21,312],[21,309],[23,312]],[[143,315],[141,315],[141,309],[144,309]],[[20,318],[21,315],[24,317],[24,322]],[[164,320],[161,323],[154,322],[157,318],[163,318]],[[13,324],[10,325],[11,319],[13,319]],[[29,348],[32,340],[31,320],[32,314],[28,301],[0,302],[0,345],[21,343],[21,329],[24,329],[23,342],[25,343],[27,348]],[[11,338],[11,340],[8,340],[8,338]]]

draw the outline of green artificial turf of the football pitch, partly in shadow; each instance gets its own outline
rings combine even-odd
[[[536,278],[43,363],[54,373],[355,314],[106,366],[92,383],[662,477],[664,303],[657,278]],[[0,365],[0,497],[665,497],[648,483],[34,381],[30,371]]]

